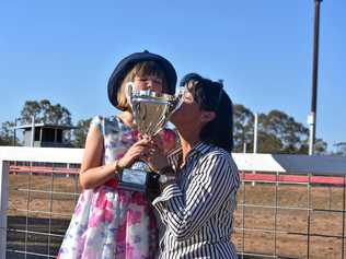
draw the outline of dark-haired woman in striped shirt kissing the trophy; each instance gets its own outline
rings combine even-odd
[[[219,82],[193,73],[182,84],[187,92],[171,118],[181,149],[148,158],[161,174],[152,202],[166,226],[160,258],[238,258],[230,240],[239,188],[232,103]]]

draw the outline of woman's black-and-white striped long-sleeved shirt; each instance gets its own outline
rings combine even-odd
[[[161,259],[238,258],[230,240],[239,174],[231,155],[198,143],[178,167],[181,150],[169,161],[177,173],[152,204],[166,226],[160,242]]]

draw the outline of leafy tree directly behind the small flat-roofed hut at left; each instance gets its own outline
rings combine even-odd
[[[26,101],[21,111],[21,122],[31,123],[32,116],[35,116],[35,122],[72,125],[70,111],[60,104],[51,105],[48,99]]]

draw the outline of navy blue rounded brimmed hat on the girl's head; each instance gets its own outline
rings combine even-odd
[[[173,95],[175,93],[176,72],[172,63],[165,58],[157,54],[151,54],[148,50],[145,50],[143,52],[135,52],[124,58],[116,66],[108,80],[108,98],[116,108],[118,108],[117,92],[122,86],[123,80],[125,79],[126,74],[136,66],[136,63],[142,61],[158,62],[162,67],[168,81],[168,91],[165,94]]]

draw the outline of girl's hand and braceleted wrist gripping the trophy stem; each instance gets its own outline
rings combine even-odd
[[[132,144],[125,155],[118,160],[118,166],[120,168],[130,167],[135,161],[143,160],[150,146],[150,140],[148,138],[142,138]]]

